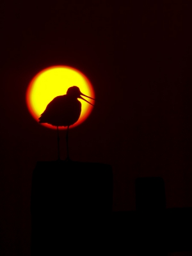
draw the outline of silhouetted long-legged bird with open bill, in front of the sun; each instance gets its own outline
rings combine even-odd
[[[68,128],[70,125],[73,125],[79,119],[81,115],[81,102],[78,100],[83,99],[84,101],[88,102],[83,97],[88,97],[81,93],[79,87],[72,86],[68,88],[67,94],[60,95],[55,97],[47,107],[45,108],[44,113],[40,115],[38,118],[39,123],[46,123],[51,124],[57,127],[58,132],[58,159],[60,160],[60,136],[59,136],[59,129],[58,127],[66,127],[67,126],[67,134],[66,134],[66,142],[67,142],[67,159],[70,160],[68,154]],[[89,99],[93,99],[88,97]],[[94,100],[94,99],[93,99]],[[92,103],[88,102],[93,106]]]

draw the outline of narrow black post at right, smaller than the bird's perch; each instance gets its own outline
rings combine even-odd
[[[138,255],[167,255],[165,239],[166,198],[161,177],[136,179]]]

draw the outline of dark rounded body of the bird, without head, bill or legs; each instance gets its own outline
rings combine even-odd
[[[70,126],[77,122],[81,115],[81,102],[68,95],[55,97],[39,118],[39,123],[54,126]]]

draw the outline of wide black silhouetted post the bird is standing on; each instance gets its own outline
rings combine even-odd
[[[32,255],[101,251],[112,202],[108,164],[38,162],[31,191]]]

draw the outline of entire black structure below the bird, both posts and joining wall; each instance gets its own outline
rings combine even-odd
[[[166,209],[164,192],[161,177],[138,178],[136,211],[112,212],[111,166],[38,162],[31,191],[31,255],[191,252],[192,209]]]

